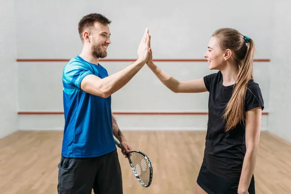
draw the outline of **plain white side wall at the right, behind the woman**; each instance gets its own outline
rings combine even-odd
[[[274,33],[266,42],[272,48],[270,68],[269,131],[291,142],[291,1],[274,2]]]

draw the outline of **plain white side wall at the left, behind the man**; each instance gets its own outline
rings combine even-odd
[[[0,138],[17,130],[16,18],[14,0],[0,0]]]

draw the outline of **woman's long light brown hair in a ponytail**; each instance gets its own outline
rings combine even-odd
[[[253,79],[254,42],[247,36],[231,28],[216,30],[212,36],[216,37],[221,51],[230,49],[239,65],[239,71],[234,84],[233,93],[226,105],[224,120],[226,131],[245,120],[244,98],[248,82]]]

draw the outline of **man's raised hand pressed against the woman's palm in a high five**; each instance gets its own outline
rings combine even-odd
[[[146,28],[146,31],[144,33],[144,36],[139,44],[137,54],[138,54],[138,60],[141,62],[146,63],[149,56],[149,48],[150,48],[150,36],[148,34],[148,29]]]

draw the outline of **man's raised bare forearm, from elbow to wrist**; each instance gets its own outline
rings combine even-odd
[[[135,76],[139,70],[145,65],[143,61],[135,61],[126,68],[103,78],[101,81],[104,91],[106,91],[107,96],[112,95],[124,85],[126,85]]]

